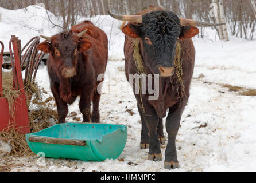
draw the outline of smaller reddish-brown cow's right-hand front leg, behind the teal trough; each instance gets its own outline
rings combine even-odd
[[[79,101],[79,109],[83,114],[83,122],[91,122],[91,92],[86,92],[81,95]]]

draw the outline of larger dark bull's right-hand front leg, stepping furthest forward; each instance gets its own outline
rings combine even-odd
[[[180,128],[181,114],[183,113],[184,105],[177,104],[170,108],[168,117],[166,118],[166,131],[168,133],[168,143],[165,150],[164,167],[166,169],[179,168],[176,152],[176,136]]]

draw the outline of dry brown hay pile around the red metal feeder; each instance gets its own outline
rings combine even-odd
[[[2,73],[3,75],[3,96],[7,98],[10,108],[10,114],[13,115],[14,98],[18,97],[18,91],[13,90],[13,73]],[[42,129],[48,128],[57,122],[57,112],[53,110],[51,101],[52,97],[42,100],[43,89],[37,85],[37,83],[30,83],[25,86],[28,114],[30,121],[31,132],[38,132]],[[25,134],[19,134],[16,132],[13,126],[9,126],[5,132],[0,132],[0,140],[7,142],[11,145],[11,155],[24,156],[32,155]]]

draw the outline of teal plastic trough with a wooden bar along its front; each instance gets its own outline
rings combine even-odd
[[[64,123],[26,134],[29,148],[36,154],[83,161],[115,159],[126,140],[127,126],[113,124]]]

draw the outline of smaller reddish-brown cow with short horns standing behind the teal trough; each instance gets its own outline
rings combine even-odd
[[[77,33],[85,29],[88,29],[87,33],[81,38],[77,37]],[[63,39],[65,36],[68,38]],[[50,43],[45,41],[38,45],[38,49],[50,52],[47,66],[60,122],[65,122],[68,113],[67,104],[72,104],[77,96],[80,96],[79,108],[83,114],[83,122],[90,122],[91,118],[92,122],[99,122],[100,94],[97,92],[97,87],[103,79],[102,81],[96,79],[106,70],[107,45],[107,35],[90,21],[83,21],[71,27],[69,33],[52,36]],[[77,53],[76,50],[72,52],[72,46],[77,47]],[[64,57],[61,53],[58,56],[55,53],[57,48],[64,50],[62,53],[68,56]],[[75,75],[69,78],[64,77],[63,68],[68,68]],[[92,117],[90,116],[91,101],[94,104]]]

